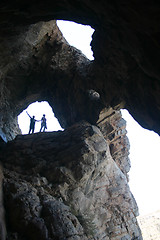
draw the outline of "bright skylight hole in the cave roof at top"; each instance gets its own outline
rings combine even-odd
[[[94,29],[90,26],[77,24],[75,22],[58,20],[57,25],[62,32],[64,38],[71,45],[81,50],[84,55],[90,60],[93,60],[93,52],[90,42]]]

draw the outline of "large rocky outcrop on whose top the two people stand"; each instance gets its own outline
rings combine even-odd
[[[96,126],[19,135],[1,161],[9,239],[141,239],[127,178]]]

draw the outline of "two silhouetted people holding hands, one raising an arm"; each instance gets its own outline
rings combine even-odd
[[[28,112],[26,112],[26,113],[30,117],[30,125],[29,125],[29,132],[28,132],[28,134],[34,133],[35,123],[36,122],[40,122],[40,121],[41,121],[40,132],[42,131],[42,129],[43,129],[43,132],[45,132],[45,129],[47,129],[47,124],[46,124],[47,120],[45,118],[45,114],[43,114],[43,117],[42,117],[41,120],[36,120],[35,116],[31,117]]]

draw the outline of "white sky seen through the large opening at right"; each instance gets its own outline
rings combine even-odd
[[[127,110],[122,110],[122,116],[127,121],[130,142],[129,185],[140,215],[144,215],[160,210],[160,137],[142,128]]]

